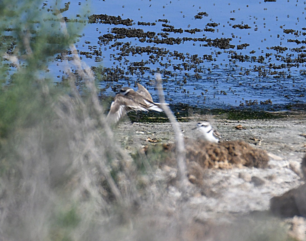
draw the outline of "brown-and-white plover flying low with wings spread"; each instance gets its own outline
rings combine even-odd
[[[106,120],[117,123],[119,119],[130,111],[159,111],[162,112],[161,103],[153,102],[151,94],[140,83],[137,83],[138,90],[134,91],[130,87],[123,87],[115,96],[110,105],[110,111]]]

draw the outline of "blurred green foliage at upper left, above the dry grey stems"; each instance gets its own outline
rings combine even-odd
[[[0,138],[48,119],[61,92],[47,74],[48,60],[66,51],[76,34],[69,26],[68,34],[61,31],[58,11],[42,6],[37,0],[0,1]]]

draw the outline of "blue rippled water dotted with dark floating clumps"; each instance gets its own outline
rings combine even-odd
[[[76,16],[85,6],[90,12]],[[306,104],[305,12],[305,1],[297,0],[80,0],[71,2],[63,16],[88,21],[93,14],[106,14],[130,22],[128,26],[114,22],[79,26],[83,27],[83,35],[76,43],[80,56],[89,66],[106,68],[101,73],[108,80],[100,82],[104,95],[114,96],[112,89],[118,91],[121,85],[133,87],[140,82],[157,100],[152,80],[154,73],[161,71],[170,103],[204,108],[240,105],[282,109]],[[150,25],[141,25],[144,23]],[[116,28],[126,33],[133,28],[154,32],[154,37],[118,35]],[[192,29],[194,34],[185,31]],[[112,39],[99,40],[106,34]],[[170,38],[181,41],[156,41]],[[229,39],[228,45],[212,44],[217,38]],[[160,49],[149,54],[130,52],[129,48],[137,47]]]

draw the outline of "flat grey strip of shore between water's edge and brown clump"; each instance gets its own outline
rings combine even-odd
[[[148,138],[159,142],[174,142],[174,132],[170,123],[131,123],[125,119],[115,130],[120,141],[130,152],[146,145]],[[196,122],[209,121],[222,135],[222,140],[243,140],[280,156],[282,159],[299,160],[306,152],[306,114],[297,113],[279,119],[228,120],[216,115],[195,115],[188,122],[180,122],[181,130],[187,137],[195,137]],[[245,129],[237,130],[242,125]],[[120,134],[119,134],[120,133]]]

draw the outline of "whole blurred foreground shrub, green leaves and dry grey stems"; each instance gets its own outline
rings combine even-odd
[[[56,84],[48,73],[48,61],[76,41],[62,5],[0,1],[0,240],[95,240],[103,233],[97,219],[126,177],[111,179],[111,160],[124,154],[105,129],[94,87],[83,97],[76,91],[76,82],[94,79],[71,74]]]

